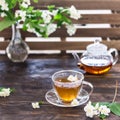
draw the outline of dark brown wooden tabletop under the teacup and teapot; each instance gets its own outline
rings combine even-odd
[[[63,69],[78,70],[73,57],[30,58],[25,63],[0,60],[0,86],[15,88],[9,97],[0,98],[0,120],[91,120],[85,116],[84,105],[61,108],[49,104],[45,94],[52,88],[51,75]],[[119,83],[116,101],[120,102],[120,62],[104,75],[85,74],[85,80],[94,85],[90,97],[93,102],[109,101],[114,97],[116,80]],[[40,109],[31,102],[44,101]],[[113,114],[108,120],[120,120]],[[98,120],[98,118],[94,118]]]

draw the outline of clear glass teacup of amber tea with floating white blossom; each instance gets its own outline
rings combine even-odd
[[[86,84],[93,91],[91,83],[84,81],[84,75],[74,70],[61,70],[52,75],[53,87],[60,102],[71,103]],[[91,93],[90,92],[90,93]]]

